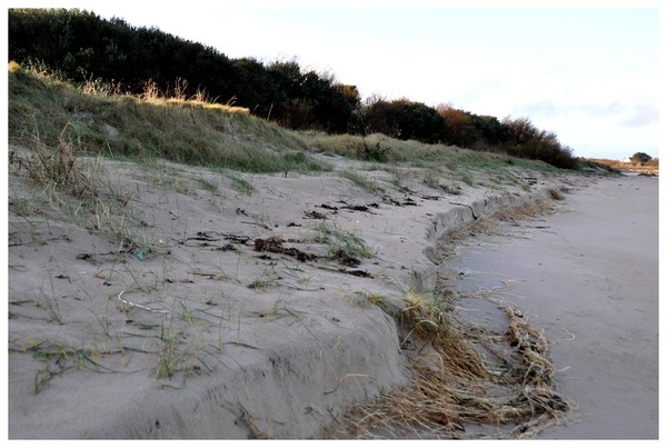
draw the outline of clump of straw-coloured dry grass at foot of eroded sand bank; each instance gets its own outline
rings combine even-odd
[[[498,333],[450,322],[445,302],[406,302],[412,384],[356,406],[335,437],[529,438],[566,417],[570,405],[554,389],[548,344],[519,312],[505,307],[508,327]]]

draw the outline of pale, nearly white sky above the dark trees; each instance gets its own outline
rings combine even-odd
[[[659,157],[659,1],[34,3],[156,27],[230,58],[296,60],[362,98],[529,118],[578,157]]]

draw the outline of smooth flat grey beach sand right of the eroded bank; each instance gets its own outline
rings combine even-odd
[[[597,180],[558,211],[467,240],[448,270],[460,306],[492,325],[476,297],[520,310],[550,341],[569,424],[544,439],[658,438],[658,179]]]

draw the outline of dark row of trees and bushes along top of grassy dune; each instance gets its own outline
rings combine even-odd
[[[212,47],[90,11],[9,9],[8,56],[21,64],[44,64],[74,83],[94,78],[122,93],[142,94],[147,86],[187,98],[203,92],[210,101],[246,107],[290,129],[380,132],[576,167],[571,149],[528,118],[499,120],[409,99],[362,100],[355,86],[295,60],[230,59]]]

